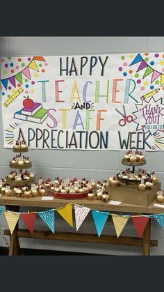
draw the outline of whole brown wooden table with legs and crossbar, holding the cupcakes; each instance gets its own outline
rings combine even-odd
[[[90,208],[91,210],[106,210],[113,213],[136,213],[139,214],[160,214],[163,209],[154,207],[154,203],[151,203],[150,206],[139,206],[133,205],[130,203],[120,203],[120,205],[108,205],[103,201],[94,199],[93,201],[88,201],[88,199],[76,199],[76,200],[66,200],[66,199],[56,199],[54,198],[51,201],[44,201],[42,197],[33,197],[31,199],[26,198],[17,198],[17,197],[0,197],[0,205],[5,205],[8,210],[19,211],[19,206],[30,206],[34,207],[33,211],[35,212],[35,207],[42,208],[59,208],[65,206],[67,203],[76,203],[81,206]],[[72,205],[74,206],[74,205]],[[77,233],[77,232],[55,232],[51,231],[33,231],[33,234],[26,229],[18,229],[18,223],[15,226],[13,234],[10,235],[10,231],[6,229],[4,231],[5,235],[10,236],[10,249],[9,255],[16,255],[19,253],[19,238],[42,238],[42,239],[51,239],[51,240],[66,240],[66,241],[78,241],[85,243],[108,243],[115,245],[131,245],[131,246],[140,246],[142,247],[142,255],[146,256],[150,254],[150,246],[158,246],[158,240],[151,240],[151,218],[145,228],[143,237],[140,239],[138,237],[129,237],[129,236],[108,236],[101,235],[100,237],[97,234],[89,233]]]

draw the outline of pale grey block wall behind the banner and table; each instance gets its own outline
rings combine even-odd
[[[115,54],[128,52],[164,52],[164,37],[0,37],[0,56],[34,56],[34,55],[63,55],[63,54]],[[1,106],[1,100],[0,100]],[[88,179],[108,178],[116,174],[118,169],[124,169],[121,164],[124,151],[60,151],[60,150],[29,150],[33,161],[36,178],[86,177]],[[145,152],[147,171],[157,172],[164,188],[163,152]],[[13,157],[10,149],[3,148],[3,130],[0,107],[0,178],[8,174],[8,162]],[[21,209],[27,212],[26,208]],[[29,210],[29,208],[28,208]],[[31,209],[32,211],[33,209]],[[40,210],[35,208],[35,210]],[[158,247],[151,247],[151,254],[164,255],[164,231],[155,220],[151,220],[151,236],[158,239]],[[24,228],[24,223],[19,220]],[[0,217],[0,245],[5,246],[3,228],[6,220],[3,213]],[[47,229],[44,222],[37,220],[35,229]],[[56,215],[56,231],[72,231],[59,215]],[[73,229],[75,231],[75,229]],[[88,215],[83,222],[81,232],[96,233],[92,215]],[[104,234],[115,234],[114,227],[106,224]],[[122,235],[137,236],[131,220],[127,223]],[[140,247],[124,247],[116,245],[99,245],[88,243],[65,243],[54,240],[20,239],[22,247],[38,249],[56,249],[67,251],[90,252],[99,254],[138,255],[142,253]]]

